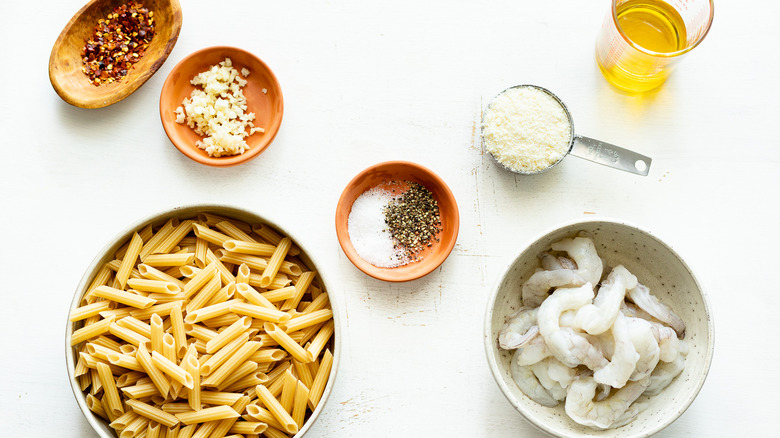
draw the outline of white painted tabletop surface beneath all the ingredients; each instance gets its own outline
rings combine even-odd
[[[659,91],[636,97],[611,88],[594,61],[608,3],[182,0],[167,62],[99,110],[60,100],[47,75],[52,45],[82,0],[4,4],[0,435],[51,436],[45,424],[60,437],[95,436],[68,385],[63,347],[84,270],[140,218],[225,203],[299,236],[334,285],[341,368],[311,438],[543,436],[487,368],[486,301],[530,239],[597,216],[668,241],[711,301],[709,378],[658,436],[777,436],[780,6],[716,1],[706,40]],[[239,167],[189,160],[160,125],[166,75],[212,45],[255,53],[284,92],[279,135]],[[579,134],[651,156],[650,175],[573,157],[535,177],[499,169],[482,151],[480,113],[519,83],[557,93]],[[345,184],[396,159],[437,172],[461,215],[449,259],[403,284],[353,267],[333,226]]]

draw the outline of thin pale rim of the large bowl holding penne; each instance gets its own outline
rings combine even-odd
[[[222,215],[226,214],[225,211],[239,212],[246,216],[258,218],[263,223],[266,223],[271,227],[273,227],[274,229],[278,230],[279,232],[282,232],[285,235],[289,236],[295,242],[295,244],[301,249],[301,252],[311,260],[312,265],[317,267],[323,266],[323,264],[320,262],[321,257],[315,256],[314,253],[306,245],[302,244],[300,239],[297,238],[296,233],[294,232],[290,233],[288,229],[281,227],[276,217],[274,217],[273,215],[261,215],[259,213],[256,213],[253,210],[249,210],[247,208],[239,207],[237,205],[232,205],[232,204],[217,204],[217,203],[186,204],[186,205],[161,209],[158,210],[157,213],[147,214],[146,216],[140,219],[134,220],[132,223],[124,227],[119,233],[115,234],[97,252],[97,255],[92,259],[90,264],[87,266],[86,270],[84,271],[84,274],[79,280],[78,285],[76,286],[76,291],[73,294],[73,299],[71,300],[68,313],[65,316],[65,322],[66,322],[65,339],[64,339],[65,365],[67,367],[70,387],[71,390],[73,391],[73,396],[76,398],[76,403],[79,405],[79,408],[81,409],[82,415],[84,415],[87,422],[90,424],[90,426],[95,431],[95,433],[97,433],[102,438],[116,438],[116,436],[106,435],[103,433],[103,429],[102,429],[103,420],[99,419],[98,416],[93,414],[92,411],[90,411],[90,409],[87,407],[86,396],[84,395],[83,391],[79,387],[79,383],[76,380],[76,377],[73,375],[76,363],[74,360],[73,347],[71,347],[70,345],[70,340],[71,337],[73,336],[73,323],[70,321],[70,314],[73,311],[73,309],[79,306],[81,302],[81,298],[86,292],[86,288],[89,287],[89,282],[91,280],[93,273],[96,272],[96,270],[99,268],[100,264],[102,263],[103,259],[105,258],[106,254],[112,248],[121,245],[122,242],[124,242],[128,238],[128,236],[130,236],[134,231],[137,231],[138,229],[146,226],[147,224],[164,221],[165,219],[173,216],[184,216],[192,213],[197,213],[200,211],[220,211],[220,214]],[[342,333],[343,325],[341,319],[342,317],[341,309],[339,307],[340,304],[338,303],[338,300],[333,299],[334,298],[333,292],[335,291],[335,288],[332,282],[329,281],[325,275],[322,275],[322,271],[320,270],[317,270],[317,276],[319,277],[319,280],[322,282],[322,285],[325,287],[325,290],[327,291],[328,295],[331,297],[330,305],[331,305],[331,309],[333,310],[333,327],[334,327],[333,338],[332,338],[334,351],[331,352],[333,354],[333,364],[331,366],[330,375],[328,376],[328,383],[325,385],[325,389],[322,392],[322,396],[320,397],[320,401],[317,404],[317,407],[314,409],[314,411],[306,420],[306,422],[303,424],[303,426],[300,428],[300,430],[298,430],[298,432],[295,434],[296,437],[303,436],[319,418],[320,413],[322,412],[325,405],[327,404],[327,400],[330,397],[333,388],[335,387],[339,364],[341,362],[341,350],[342,350],[341,341],[343,337],[343,333]]]

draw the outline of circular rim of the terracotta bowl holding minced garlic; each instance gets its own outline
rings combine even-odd
[[[165,121],[165,111],[169,111],[170,108],[163,106],[163,100],[164,100],[164,96],[166,95],[166,91],[172,87],[171,84],[173,82],[173,76],[179,70],[181,70],[185,64],[192,61],[193,59],[196,59],[198,56],[202,56],[206,53],[217,52],[217,51],[224,51],[228,53],[237,52],[253,58],[260,65],[262,65],[263,68],[266,70],[268,76],[272,79],[274,88],[278,91],[278,95],[279,95],[279,110],[278,110],[279,123],[274,123],[273,125],[271,125],[270,128],[265,130],[264,132],[265,137],[263,138],[261,144],[251,149],[248,149],[244,151],[243,154],[239,154],[239,155],[229,155],[224,157],[202,156],[197,153],[198,147],[195,146],[194,144],[182,145],[174,141],[171,138],[172,135],[171,132],[173,131],[174,126]],[[229,54],[226,54],[226,56],[229,58],[231,57]],[[205,164],[211,167],[237,166],[239,164],[243,164],[246,163],[247,161],[257,158],[258,156],[260,156],[260,154],[265,152],[265,150],[268,149],[269,146],[271,146],[271,143],[273,143],[274,139],[276,138],[276,135],[279,133],[279,129],[281,129],[282,120],[284,119],[284,95],[282,94],[282,85],[279,82],[279,78],[276,77],[276,74],[274,73],[273,70],[271,70],[271,67],[269,67],[265,61],[260,59],[260,57],[258,57],[257,55],[255,55],[254,53],[248,50],[236,46],[203,47],[182,58],[179,62],[176,63],[176,65],[173,66],[171,71],[168,72],[168,76],[165,77],[165,81],[163,82],[163,85],[160,88],[159,107],[160,107],[160,123],[162,124],[163,130],[165,131],[165,135],[168,137],[168,141],[170,141],[171,144],[173,144],[173,146],[176,147],[176,149],[178,149],[178,151],[184,154],[184,156],[186,156],[187,158],[197,163]]]

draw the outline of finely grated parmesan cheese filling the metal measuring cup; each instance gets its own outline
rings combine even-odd
[[[555,98],[535,87],[496,96],[482,119],[482,138],[496,161],[515,172],[540,172],[569,151],[571,122]]]

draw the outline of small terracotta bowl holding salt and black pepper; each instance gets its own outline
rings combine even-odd
[[[423,251],[420,260],[395,268],[380,268],[363,260],[357,254],[349,238],[347,222],[352,203],[358,196],[366,190],[392,181],[412,181],[430,190],[439,204],[442,231],[438,235],[440,241]],[[344,254],[358,269],[384,281],[414,280],[439,267],[455,246],[459,226],[458,205],[447,184],[431,170],[408,161],[379,163],[360,172],[347,184],[336,206],[336,235]]]

